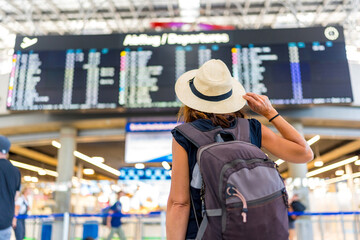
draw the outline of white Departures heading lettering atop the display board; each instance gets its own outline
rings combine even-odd
[[[186,46],[188,44],[228,43],[229,41],[230,36],[227,33],[163,33],[162,35],[127,34],[123,45],[159,47],[168,44]]]

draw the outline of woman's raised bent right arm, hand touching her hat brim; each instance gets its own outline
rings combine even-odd
[[[249,107],[267,119],[276,116],[278,112],[273,108],[267,96],[247,93],[244,95]],[[303,136],[291,126],[284,118],[278,116],[271,123],[280,132],[276,135],[268,127],[262,125],[262,146],[275,156],[293,163],[306,163],[314,155]]]

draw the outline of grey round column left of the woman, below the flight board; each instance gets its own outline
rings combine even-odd
[[[56,213],[71,212],[71,187],[72,177],[74,176],[76,135],[77,131],[73,127],[64,126],[60,130],[61,148],[58,151],[57,166],[59,176],[56,180],[55,192]],[[65,220],[68,220],[68,218],[64,217],[64,219],[57,219],[55,222],[52,240],[70,239],[69,224],[68,221]]]

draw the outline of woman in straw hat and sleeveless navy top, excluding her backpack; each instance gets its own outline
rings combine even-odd
[[[210,60],[199,69],[184,73],[177,80],[175,91],[184,104],[179,117],[184,122],[192,122],[202,131],[216,126],[232,127],[236,118],[244,117],[241,109],[247,102],[254,112],[266,117],[281,134],[278,136],[257,120],[249,119],[252,144],[293,163],[305,163],[313,158],[305,139],[278,114],[269,99],[245,93],[220,60]],[[197,148],[176,129],[172,134],[173,165],[167,205],[167,238],[195,239],[200,224],[198,219],[201,219],[200,189],[194,188],[191,182]]]

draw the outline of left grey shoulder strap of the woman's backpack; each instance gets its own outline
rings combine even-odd
[[[216,127],[210,131],[201,131],[192,123],[181,124],[175,129],[198,148],[215,142],[215,135],[222,131],[221,127]]]

